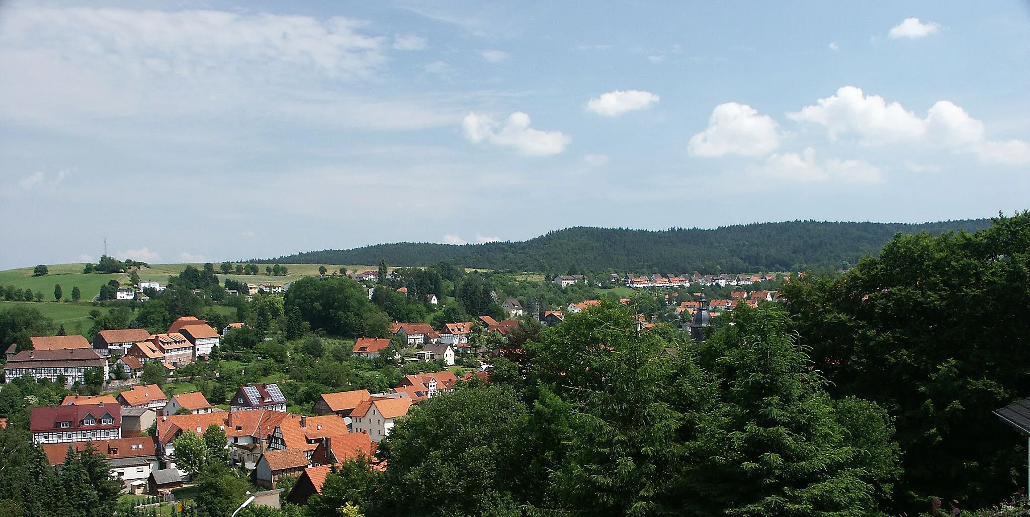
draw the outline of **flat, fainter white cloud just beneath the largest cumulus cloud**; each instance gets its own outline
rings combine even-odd
[[[800,153],[785,152],[769,156],[762,165],[751,165],[747,172],[753,176],[793,181],[878,182],[880,170],[860,160],[830,159],[818,163],[815,150],[806,147]]]

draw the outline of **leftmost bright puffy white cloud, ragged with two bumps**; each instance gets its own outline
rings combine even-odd
[[[461,120],[461,129],[469,141],[514,147],[522,154],[536,157],[557,154],[572,141],[572,137],[560,131],[533,129],[529,115],[521,111],[509,115],[503,125],[487,114],[469,113]]]

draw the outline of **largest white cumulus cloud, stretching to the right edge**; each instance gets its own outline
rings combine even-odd
[[[825,127],[830,140],[855,136],[865,145],[907,142],[954,152],[975,152],[985,162],[1030,163],[1030,143],[988,140],[984,123],[951,101],[937,101],[924,118],[898,102],[888,103],[879,95],[866,96],[859,88],[844,87],[787,116]]]

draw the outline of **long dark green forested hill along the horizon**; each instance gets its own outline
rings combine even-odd
[[[666,231],[570,228],[520,242],[434,244],[401,242],[354,249],[309,251],[274,260],[278,264],[379,264],[428,266],[450,262],[467,268],[564,272],[585,271],[745,273],[796,271],[854,265],[876,254],[895,234],[987,228],[990,219],[921,225],[894,222],[759,222],[714,230]]]

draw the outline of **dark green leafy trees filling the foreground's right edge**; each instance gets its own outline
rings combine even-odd
[[[1030,395],[1030,213],[977,232],[898,236],[836,278],[787,287],[829,390],[896,419],[902,509],[1000,501],[1026,481],[1025,439],[994,409]]]

